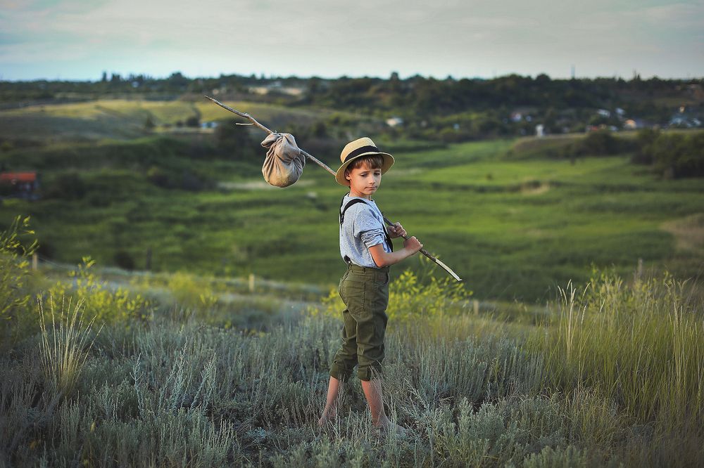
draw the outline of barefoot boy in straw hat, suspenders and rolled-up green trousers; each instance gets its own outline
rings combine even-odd
[[[391,238],[406,236],[406,230],[400,223],[385,230],[383,215],[372,200],[379,190],[382,174],[394,164],[394,157],[379,151],[370,138],[359,138],[345,146],[340,160],[342,164],[335,178],[350,188],[342,199],[339,220],[340,254],[347,262],[339,293],[346,308],[342,312],[342,346],[330,367],[327,401],[318,424],[322,426],[332,420],[337,411],[339,384],[358,365],[357,376],[374,426],[382,431],[403,432],[403,428],[386,417],[379,379],[389,304],[389,266],[423,246],[412,237],[403,242],[403,249],[393,252]]]

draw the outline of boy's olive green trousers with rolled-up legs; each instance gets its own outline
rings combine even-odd
[[[389,305],[389,267],[367,268],[348,264],[340,280],[342,346],[335,353],[330,375],[346,381],[355,366],[360,380],[371,380],[382,372],[386,306]]]

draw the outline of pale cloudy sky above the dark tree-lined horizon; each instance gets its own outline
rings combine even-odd
[[[0,0],[0,80],[704,77],[704,1]]]

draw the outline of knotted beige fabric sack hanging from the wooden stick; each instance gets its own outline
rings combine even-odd
[[[306,157],[296,145],[296,138],[291,134],[273,133],[264,138],[262,146],[269,149],[262,167],[264,180],[277,187],[296,183],[306,165]]]

